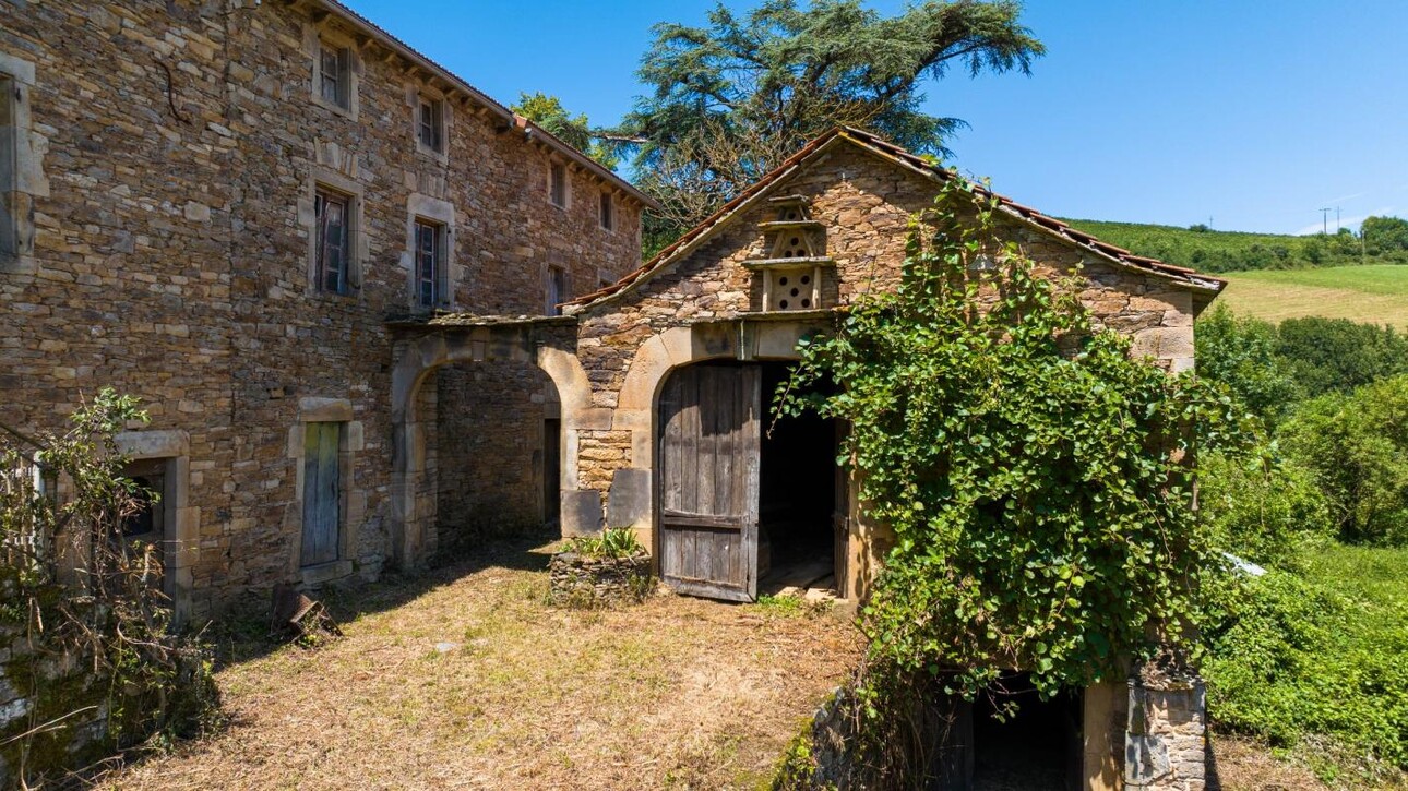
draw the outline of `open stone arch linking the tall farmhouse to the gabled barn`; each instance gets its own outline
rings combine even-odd
[[[435,502],[420,494],[425,474],[425,426],[417,414],[417,394],[438,369],[455,363],[524,362],[541,369],[562,403],[562,426],[574,434],[579,415],[587,411],[591,384],[576,355],[539,338],[531,325],[466,327],[446,329],[397,345],[391,370],[391,555],[403,569],[425,562],[425,529],[435,518]],[[576,480],[574,449],[563,453],[563,486]]]

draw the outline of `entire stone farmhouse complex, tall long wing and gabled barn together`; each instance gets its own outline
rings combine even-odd
[[[862,597],[888,545],[845,426],[766,398],[953,177],[836,128],[639,266],[650,198],[334,0],[0,4],[0,424],[144,398],[131,532],[187,618],[551,522],[634,528],[681,593]],[[1221,280],[977,194],[1193,366]],[[1126,749],[1201,773],[1190,694],[1087,690],[1088,787]]]

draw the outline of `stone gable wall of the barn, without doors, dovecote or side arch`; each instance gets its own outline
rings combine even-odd
[[[822,224],[824,253],[834,267],[824,269],[821,307],[832,308],[895,286],[910,218],[932,205],[939,184],[849,144],[824,151],[766,194],[801,196],[810,218]],[[819,311],[762,315],[763,276],[743,263],[772,258],[770,236],[760,224],[777,220],[777,204],[767,200],[745,204],[635,287],[573,307],[576,357],[589,387],[563,394],[565,404],[580,400],[583,415],[582,424],[567,426],[574,432],[567,446],[579,449],[577,491],[569,495],[580,510],[563,522],[565,533],[590,532],[601,524],[590,495],[598,494],[603,502],[622,500],[615,497],[617,479],[652,476],[655,398],[672,369],[718,357],[794,359],[798,338],[828,327]],[[1080,267],[1080,298],[1095,324],[1132,336],[1135,355],[1152,356],[1170,370],[1191,367],[1198,308],[1193,291],[1170,277],[1102,259],[1025,220],[995,217],[998,235],[1018,243],[1036,262],[1039,276],[1060,279]],[[635,526],[650,546],[653,488],[634,488],[641,494],[628,510],[642,515]],[[855,497],[850,507],[845,587],[860,595],[883,557],[888,531],[867,524]]]

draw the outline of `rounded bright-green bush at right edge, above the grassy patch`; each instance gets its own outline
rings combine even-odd
[[[1408,374],[1307,401],[1277,436],[1315,476],[1343,540],[1408,546]]]

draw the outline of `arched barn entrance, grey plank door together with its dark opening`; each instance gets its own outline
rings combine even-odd
[[[728,360],[665,381],[658,557],[680,593],[753,601],[759,580],[769,591],[845,578],[836,429],[819,418],[773,424],[767,404],[784,376],[786,363]]]

